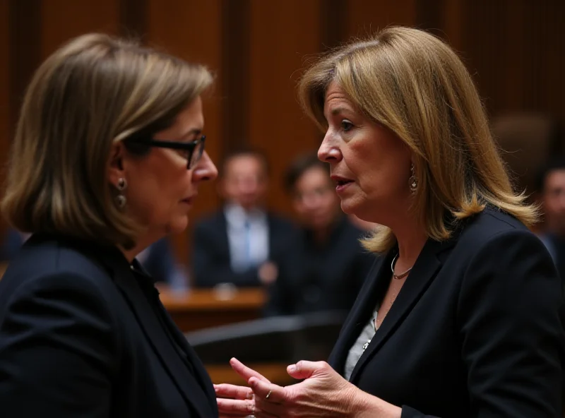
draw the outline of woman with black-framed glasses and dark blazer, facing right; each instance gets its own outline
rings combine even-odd
[[[215,417],[212,383],[136,255],[182,232],[202,181],[202,66],[106,35],[25,95],[1,209],[31,233],[0,281],[6,417]]]

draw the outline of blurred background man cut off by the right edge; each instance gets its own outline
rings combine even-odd
[[[540,234],[553,261],[565,280],[565,158],[549,162],[537,179],[545,214],[545,224]]]

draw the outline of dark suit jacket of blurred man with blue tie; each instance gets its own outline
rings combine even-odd
[[[295,237],[295,228],[289,221],[267,215],[269,228],[269,259],[280,263]],[[227,220],[224,210],[198,222],[194,229],[194,283],[197,287],[214,287],[230,282],[239,287],[261,286],[257,268],[236,273],[231,268],[230,244],[227,238]]]

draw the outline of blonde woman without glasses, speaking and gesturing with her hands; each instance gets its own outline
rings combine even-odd
[[[387,28],[299,90],[341,207],[383,225],[365,242],[382,258],[329,364],[289,366],[305,380],[282,388],[232,360],[251,388],[217,386],[220,416],[561,417],[560,280],[458,56]]]

